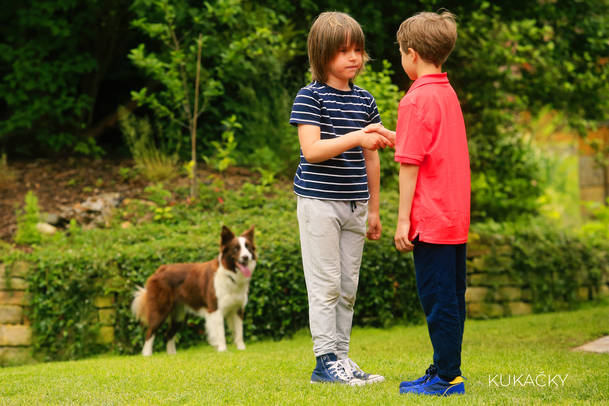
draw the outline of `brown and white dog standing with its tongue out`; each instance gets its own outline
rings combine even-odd
[[[167,353],[175,354],[175,335],[186,311],[205,317],[207,339],[218,351],[226,351],[226,318],[237,349],[244,350],[243,309],[256,259],[254,226],[239,237],[223,226],[218,258],[203,263],[161,265],[148,278],[146,289],[138,287],[133,293],[131,310],[148,325],[142,354],[152,355],[154,336],[169,316]]]

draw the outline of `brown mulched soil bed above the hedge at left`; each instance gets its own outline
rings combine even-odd
[[[228,168],[223,173],[216,173],[201,166],[197,177],[203,184],[219,177],[228,189],[238,188],[258,177],[245,168]],[[152,184],[138,173],[132,160],[38,159],[9,162],[8,171],[8,182],[0,184],[0,239],[8,243],[13,242],[17,229],[16,212],[24,207],[25,195],[30,190],[38,198],[42,214],[58,214],[91,196],[105,193],[119,193],[122,199],[145,199],[145,189]],[[166,182],[164,187],[171,191],[190,190],[190,181],[185,170],[183,172]],[[186,199],[184,195],[181,194]],[[180,195],[174,193],[174,196],[180,199]]]

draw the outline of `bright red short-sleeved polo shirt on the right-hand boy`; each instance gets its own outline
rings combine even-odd
[[[469,152],[461,106],[446,73],[421,76],[400,101],[395,160],[419,165],[408,238],[467,242]]]

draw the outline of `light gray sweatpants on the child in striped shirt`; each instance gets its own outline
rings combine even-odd
[[[313,352],[347,358],[368,202],[299,196],[297,213]]]

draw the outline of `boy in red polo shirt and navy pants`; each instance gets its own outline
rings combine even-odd
[[[442,73],[457,39],[455,16],[416,14],[402,23],[397,38],[402,67],[415,82],[400,102],[395,133],[395,160],[401,163],[395,245],[401,252],[413,251],[417,291],[434,348],[425,375],[402,382],[400,393],[465,393],[460,367],[469,153],[459,100]],[[393,136],[383,128],[367,131]]]

